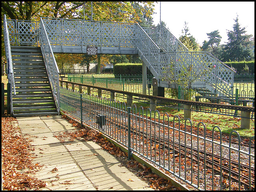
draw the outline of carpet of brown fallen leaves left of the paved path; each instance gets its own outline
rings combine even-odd
[[[10,124],[15,118],[2,117],[2,189],[30,190],[46,186],[46,182],[30,176],[42,166],[33,164],[30,140],[18,127]]]

